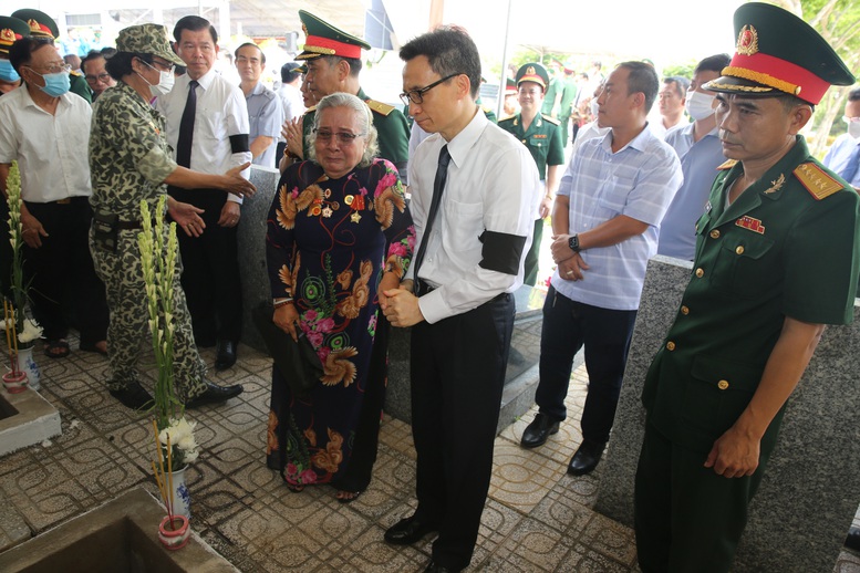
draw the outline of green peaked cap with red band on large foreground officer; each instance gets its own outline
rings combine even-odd
[[[787,93],[812,105],[854,76],[815,29],[791,12],[750,2],[735,11],[735,55],[705,90],[744,95]]]

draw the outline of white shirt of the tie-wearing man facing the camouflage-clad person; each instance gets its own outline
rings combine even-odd
[[[167,121],[165,135],[174,150],[174,159],[190,81],[188,74],[177,77],[170,93],[159,95],[155,105]],[[196,88],[197,113],[194,119],[190,168],[210,175],[222,175],[228,169],[251,160],[250,150],[232,153],[230,147],[231,135],[250,133],[248,105],[239,86],[227,82],[215,70],[209,70],[197,83],[200,85]],[[246,179],[249,174],[250,169],[242,171]],[[228,194],[227,199],[241,202],[241,198],[232,194]]]

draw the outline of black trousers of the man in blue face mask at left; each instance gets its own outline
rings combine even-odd
[[[48,237],[37,249],[24,247],[24,277],[30,280],[33,317],[49,340],[64,338],[76,326],[82,344],[107,336],[108,311],[104,283],[95,274],[90,254],[93,211],[87,197],[66,204],[25,201]]]

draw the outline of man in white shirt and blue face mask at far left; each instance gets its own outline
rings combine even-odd
[[[69,355],[70,310],[77,317],[81,350],[106,354],[107,304],[89,242],[92,110],[69,93],[69,66],[53,40],[22,38],[9,55],[24,85],[0,98],[0,188],[6,195],[17,160],[24,271],[34,317],[44,329],[45,354]]]

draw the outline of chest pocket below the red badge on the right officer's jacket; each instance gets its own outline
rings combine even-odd
[[[740,299],[758,298],[780,282],[774,241],[750,231],[724,231],[712,283]]]

